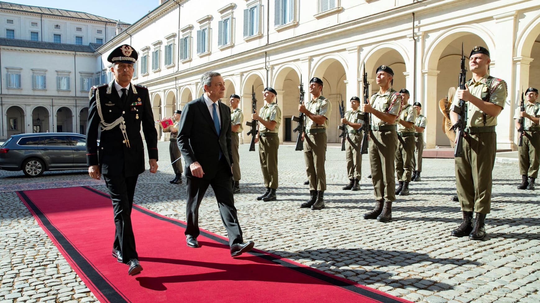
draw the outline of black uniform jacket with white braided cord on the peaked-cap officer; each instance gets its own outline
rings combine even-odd
[[[149,159],[158,159],[158,134],[156,132],[152,107],[148,89],[135,85],[137,94],[130,85],[127,100],[122,104],[114,85],[110,94],[107,86],[92,87],[90,92],[90,106],[88,109],[88,126],[86,129],[86,164],[99,165],[102,174],[110,176],[136,176],[143,173],[144,146],[140,134],[141,125],[148,148]],[[111,123],[124,116],[127,137],[130,147],[127,147],[119,126],[98,133],[101,121],[96,107],[96,92],[99,91],[99,100],[103,119]],[[138,117],[138,119],[137,119]],[[99,135],[99,148],[97,140]]]

